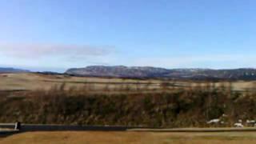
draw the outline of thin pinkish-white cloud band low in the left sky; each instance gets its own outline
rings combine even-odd
[[[103,56],[112,52],[110,46],[78,46],[64,44],[5,43],[0,42],[0,55],[12,58],[86,58]]]

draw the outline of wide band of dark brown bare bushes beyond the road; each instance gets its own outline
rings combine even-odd
[[[238,119],[256,119],[255,93],[213,85],[158,93],[90,94],[81,88],[65,90],[63,84],[51,90],[1,96],[0,122],[203,127],[223,114],[223,126],[232,126]]]

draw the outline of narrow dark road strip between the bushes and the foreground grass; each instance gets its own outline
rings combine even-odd
[[[254,127],[246,128],[182,128],[182,129],[152,129],[146,127],[128,126],[66,126],[66,125],[34,125],[22,124],[19,132],[28,131],[138,131],[138,132],[246,132],[255,131]],[[14,123],[0,123],[0,128],[14,130]],[[9,131],[10,132],[10,131]],[[17,133],[18,131],[12,131]],[[0,131],[0,134],[8,131]]]

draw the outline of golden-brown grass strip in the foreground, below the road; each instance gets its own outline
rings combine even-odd
[[[255,143],[254,132],[245,133],[151,133],[151,132],[34,132],[2,138],[2,144],[247,144]]]

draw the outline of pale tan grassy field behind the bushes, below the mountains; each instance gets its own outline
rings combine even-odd
[[[128,86],[130,90],[158,90],[161,88],[161,80],[148,79],[122,79],[122,78],[86,78],[71,77],[65,75],[46,74],[0,74],[0,90],[49,90],[53,86],[60,86],[66,83],[66,89],[71,87],[84,88],[90,90],[122,90]],[[169,81],[175,83],[175,88],[186,88],[190,86],[206,86],[206,82],[192,81]],[[256,82],[236,81],[232,82],[234,90],[252,90]],[[215,86],[229,86],[229,82],[215,82]],[[170,86],[169,88],[174,88]]]

